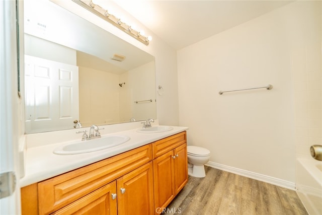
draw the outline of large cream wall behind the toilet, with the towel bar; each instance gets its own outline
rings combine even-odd
[[[320,39],[319,4],[291,3],[178,51],[180,125],[211,165],[294,187],[291,53]]]

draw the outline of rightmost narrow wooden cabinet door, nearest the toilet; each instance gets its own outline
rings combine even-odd
[[[187,144],[183,144],[177,147],[175,150],[175,190],[176,194],[187,184],[188,182],[188,156],[187,156]]]

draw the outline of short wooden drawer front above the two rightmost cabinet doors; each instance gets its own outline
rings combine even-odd
[[[175,135],[157,140],[152,143],[153,159],[175,149],[187,142],[187,132],[183,131]]]

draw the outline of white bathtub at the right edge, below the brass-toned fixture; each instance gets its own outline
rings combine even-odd
[[[309,214],[322,214],[322,161],[298,158],[295,187]]]

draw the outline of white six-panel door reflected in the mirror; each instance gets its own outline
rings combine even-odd
[[[73,127],[79,119],[77,80],[75,65],[25,55],[27,133]]]

